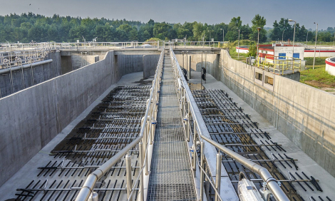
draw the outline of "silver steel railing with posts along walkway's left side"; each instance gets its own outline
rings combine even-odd
[[[147,109],[145,110],[145,115],[142,118],[141,122],[141,130],[138,138],[133,140],[130,144],[128,144],[123,150],[120,150],[119,153],[110,158],[107,162],[100,166],[100,168],[96,169],[90,175],[88,175],[86,182],[81,187],[78,196],[76,197],[76,201],[88,200],[90,195],[93,193],[93,187],[96,182],[105,175],[106,172],[110,170],[110,168],[115,165],[121,158],[125,156],[126,162],[126,182],[127,182],[127,195],[128,200],[131,199],[133,192],[135,190],[135,186],[140,181],[140,201],[144,200],[144,184],[143,184],[143,176],[148,175],[149,165],[148,165],[148,146],[153,143],[153,138],[155,134],[155,123],[157,119],[157,111],[158,111],[158,100],[160,93],[160,80],[162,75],[163,68],[163,56],[164,51],[160,54],[160,59],[158,61],[158,66],[155,71],[155,78],[153,80],[153,87],[150,89],[150,98],[147,100]],[[139,153],[140,153],[140,173],[136,180],[131,185],[131,163],[130,156],[127,154],[129,150],[131,150],[135,145],[139,145]]]

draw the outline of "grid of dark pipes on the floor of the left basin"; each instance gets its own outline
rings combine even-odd
[[[18,186],[16,200],[75,200],[86,177],[140,134],[150,86],[118,86],[53,149],[50,161],[36,167],[29,184]],[[130,150],[132,176],[139,173],[138,146]],[[99,200],[127,200],[125,160],[98,180]],[[138,200],[138,185],[133,200]]]

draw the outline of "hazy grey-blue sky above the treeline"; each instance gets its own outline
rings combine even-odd
[[[29,6],[29,4],[31,4]],[[0,15],[33,12],[45,16],[81,16],[148,22],[228,24],[241,16],[249,24],[256,14],[274,20],[293,19],[306,29],[335,27],[335,0],[0,0]]]

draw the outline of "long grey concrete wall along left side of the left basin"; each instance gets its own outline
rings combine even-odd
[[[0,98],[0,185],[111,84],[143,71],[142,58],[110,51],[97,63]]]

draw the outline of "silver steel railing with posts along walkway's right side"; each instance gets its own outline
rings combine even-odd
[[[182,73],[182,70],[179,66],[179,63],[177,61],[177,58],[175,57],[175,53],[172,51],[172,48],[170,48],[170,57],[172,61],[172,66],[174,68],[174,73],[175,73],[175,79],[176,79],[176,86],[178,88],[179,92],[179,98],[180,98],[180,108],[182,110],[182,117],[185,120],[185,132],[186,132],[186,138],[187,140],[190,139],[190,118],[192,117],[193,120],[193,125],[194,125],[194,131],[193,131],[193,136],[192,136],[192,143],[193,143],[193,150],[194,152],[196,151],[197,147],[197,138],[200,140],[205,140],[207,143],[210,143],[210,145],[215,146],[218,150],[222,151],[222,153],[225,153],[226,155],[229,155],[231,158],[234,160],[237,160],[237,162],[241,163],[244,165],[246,168],[251,170],[252,172],[257,173],[264,182],[266,183],[267,187],[269,190],[271,190],[272,194],[276,198],[276,200],[279,201],[288,201],[289,198],[281,187],[279,187],[279,184],[277,180],[272,177],[270,172],[266,169],[263,168],[261,165],[257,165],[256,163],[248,160],[247,158],[244,158],[242,155],[239,155],[238,153],[235,153],[233,150],[230,150],[229,148],[225,147],[225,145],[220,145],[219,143],[215,142],[210,138],[210,133],[207,130],[205,121],[202,119],[202,115],[200,113],[199,108],[197,107],[197,104],[195,102],[195,99],[192,96],[192,93],[190,91],[190,88],[187,85],[187,82],[184,78],[184,74]],[[200,199],[201,201],[203,200],[204,193],[203,193],[203,184],[204,184],[204,144],[203,142],[200,143],[200,148],[202,148],[200,151]],[[214,154],[214,153],[213,153]],[[221,175],[221,154],[217,153],[217,179],[215,182],[215,186],[213,188],[215,189],[215,200],[222,200],[219,192],[220,192],[220,175]],[[220,164],[219,164],[220,163]],[[194,154],[193,161],[192,161],[192,168],[195,171],[197,167],[197,157],[196,154]],[[214,185],[213,183],[211,183]]]

